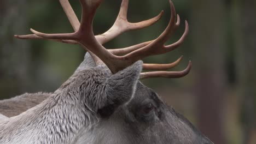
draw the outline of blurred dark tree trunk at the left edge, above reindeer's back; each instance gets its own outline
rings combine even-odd
[[[0,1],[0,93],[1,99],[19,94],[28,83],[30,51],[26,41],[13,34],[26,28],[26,0]]]

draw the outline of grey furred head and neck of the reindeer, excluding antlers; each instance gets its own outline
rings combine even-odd
[[[42,103],[37,99],[33,104],[39,105],[18,116],[2,116],[0,143],[211,144],[152,89],[138,82],[141,65],[139,61],[112,75],[106,65],[96,67],[86,54],[57,91],[34,94],[40,98],[44,94]],[[30,103],[32,95],[20,95],[5,104],[16,100],[22,105],[25,102],[19,99],[25,97]],[[155,106],[150,115],[143,113],[147,101]]]

